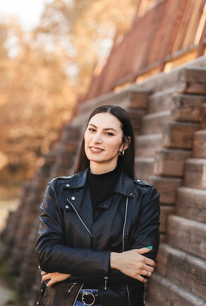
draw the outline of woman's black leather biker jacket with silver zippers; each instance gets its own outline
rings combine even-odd
[[[144,284],[111,269],[110,252],[152,245],[146,256],[156,259],[159,193],[147,182],[121,172],[113,197],[93,211],[87,171],[53,179],[41,205],[36,243],[41,269],[72,274],[46,288],[44,303],[73,306],[83,284],[96,284],[101,306],[144,306]]]

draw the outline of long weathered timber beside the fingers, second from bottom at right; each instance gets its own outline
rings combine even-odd
[[[206,300],[206,261],[168,244],[160,245],[156,271]],[[198,277],[197,277],[198,276]]]

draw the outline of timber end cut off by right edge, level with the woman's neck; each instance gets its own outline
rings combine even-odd
[[[205,158],[190,158],[185,161],[184,185],[191,188],[206,189]]]

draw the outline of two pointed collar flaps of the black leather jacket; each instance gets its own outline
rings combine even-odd
[[[64,185],[65,188],[83,188],[86,185],[86,177],[89,169],[85,169],[84,171],[72,175],[68,182]],[[134,187],[132,179],[126,175],[123,171],[121,171],[121,175],[118,179],[118,182],[115,186],[114,192],[120,193],[124,196],[134,197]]]

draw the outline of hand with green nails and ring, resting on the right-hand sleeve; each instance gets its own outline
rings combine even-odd
[[[151,277],[156,265],[152,259],[143,255],[151,249],[143,247],[122,253],[111,252],[110,266],[112,269],[117,269],[127,276],[146,283],[147,278],[144,278],[143,275]]]

